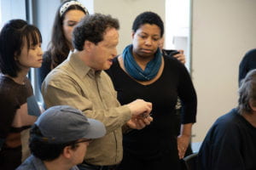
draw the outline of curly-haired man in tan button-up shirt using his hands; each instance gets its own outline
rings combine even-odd
[[[99,120],[107,134],[91,142],[80,169],[113,169],[122,159],[122,127],[141,129],[152,122],[152,104],[136,99],[120,105],[108,74],[119,42],[119,21],[110,15],[84,17],[73,30],[75,51],[45,78],[45,105],[72,105]]]

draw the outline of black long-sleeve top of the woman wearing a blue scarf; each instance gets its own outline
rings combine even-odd
[[[158,156],[162,151],[177,151],[177,96],[182,101],[181,123],[195,122],[197,99],[189,72],[177,59],[164,56],[165,67],[160,78],[143,85],[123,71],[118,59],[107,71],[112,78],[118,99],[125,105],[134,99],[152,102],[154,121],[142,130],[132,130],[124,135],[124,149],[138,156]]]

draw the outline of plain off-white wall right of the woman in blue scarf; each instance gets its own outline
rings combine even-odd
[[[256,44],[256,1],[194,0],[192,77],[198,95],[194,142],[237,104],[238,65]]]

